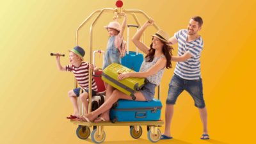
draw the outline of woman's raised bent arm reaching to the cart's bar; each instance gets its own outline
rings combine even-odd
[[[145,54],[148,54],[149,47],[147,47],[147,45],[143,44],[143,42],[140,41],[140,38],[141,38],[141,35],[143,34],[143,32],[145,31],[145,29],[147,29],[148,26],[151,26],[153,24],[154,24],[154,20],[152,20],[152,19],[148,20],[137,31],[137,33],[132,37],[132,42],[134,43],[134,45],[136,45],[136,47],[138,47],[138,49],[143,51]]]

